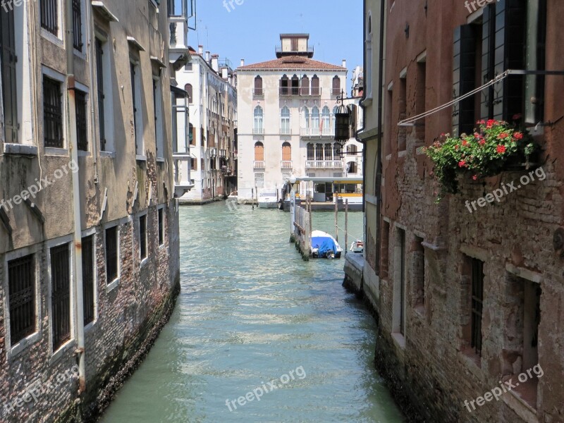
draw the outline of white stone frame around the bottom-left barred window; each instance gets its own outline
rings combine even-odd
[[[23,338],[16,345],[11,345],[11,329],[10,329],[10,288],[8,281],[8,262],[12,260],[21,259],[28,255],[34,256],[35,264],[35,332]],[[4,331],[6,333],[6,360],[10,362],[13,357],[16,357],[26,348],[39,342],[41,340],[41,321],[42,321],[42,308],[41,308],[41,248],[39,244],[23,247],[19,250],[6,252],[4,255]]]

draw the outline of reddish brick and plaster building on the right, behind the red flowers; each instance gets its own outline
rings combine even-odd
[[[367,163],[380,145],[382,164],[381,180],[379,168],[367,172],[364,266],[379,320],[378,368],[418,421],[560,422],[564,110],[556,93],[564,61],[556,46],[564,5],[367,0],[364,7],[360,137]],[[458,99],[508,69],[529,72]],[[522,120],[542,147],[539,167],[461,180],[457,195],[436,203],[439,187],[422,147],[489,118]],[[499,202],[466,206],[512,181],[520,188]]]

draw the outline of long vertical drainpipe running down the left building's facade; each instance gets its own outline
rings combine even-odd
[[[74,27],[73,27],[73,0],[66,0],[66,84],[68,94],[68,139],[71,149],[71,158],[78,164],[78,140],[76,133],[76,99],[75,99],[75,66],[74,66]],[[85,343],[84,343],[84,305],[82,302],[82,226],[80,220],[80,180],[78,172],[72,172],[73,177],[73,214],[74,214],[74,309],[75,309],[75,335],[77,340],[78,355],[78,393],[85,391]]]

